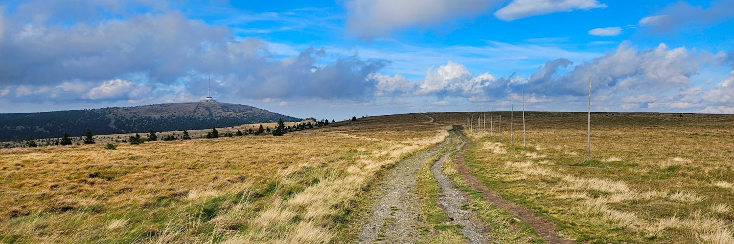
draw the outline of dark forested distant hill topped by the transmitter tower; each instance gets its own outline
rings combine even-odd
[[[0,114],[0,141],[81,136],[87,129],[95,135],[167,130],[198,130],[211,127],[302,119],[264,109],[232,103],[192,102],[156,105]]]

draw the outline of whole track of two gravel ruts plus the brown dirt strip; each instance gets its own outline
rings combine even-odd
[[[482,193],[484,200],[511,212],[517,218],[528,223],[540,236],[545,238],[547,243],[573,242],[573,239],[557,232],[553,222],[535,215],[526,207],[502,199],[497,191],[487,188],[471,174],[471,170],[465,166],[463,158],[471,144],[459,131],[459,127],[454,126],[454,130],[450,131],[450,136],[446,138],[446,141],[425,152],[400,161],[395,168],[385,174],[382,182],[377,187],[377,193],[373,196],[373,204],[368,208],[368,219],[364,220],[359,230],[357,243],[416,243],[421,240],[418,232],[418,228],[421,226],[421,202],[415,196],[416,174],[424,166],[426,160],[441,152],[445,153],[431,166],[431,172],[440,189],[438,202],[451,218],[451,223],[460,226],[459,232],[462,233],[468,243],[489,242],[491,236],[487,227],[471,212],[461,208],[463,204],[469,201],[469,195],[458,188],[454,188],[454,185],[451,184],[451,178],[443,174],[443,163],[448,160],[451,154],[459,150],[454,157],[457,171],[464,178],[467,185]],[[459,144],[452,143],[454,138],[459,138],[461,142]]]

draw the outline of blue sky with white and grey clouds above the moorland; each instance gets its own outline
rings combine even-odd
[[[0,113],[734,114],[734,0],[0,1]]]

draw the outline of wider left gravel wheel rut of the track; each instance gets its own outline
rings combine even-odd
[[[413,193],[415,175],[426,160],[448,147],[447,138],[426,152],[400,161],[385,174],[369,210],[370,219],[360,229],[358,243],[415,243],[420,240],[420,205]]]

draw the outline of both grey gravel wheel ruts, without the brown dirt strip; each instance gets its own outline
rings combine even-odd
[[[451,179],[443,175],[441,167],[443,162],[462,147],[462,144],[452,144],[457,137],[456,130],[450,131],[450,136],[441,144],[422,152],[413,157],[402,160],[396,167],[385,175],[379,193],[374,197],[371,206],[369,220],[364,223],[359,232],[359,243],[415,243],[421,240],[418,227],[421,226],[420,206],[421,202],[415,196],[416,174],[426,160],[440,152],[453,148],[435,161],[432,173],[438,182],[441,196],[438,199],[452,223],[462,226],[460,232],[467,238],[469,243],[484,243],[486,237],[482,234],[481,221],[476,221],[470,212],[461,210],[463,203],[467,202],[462,192],[451,185]]]

